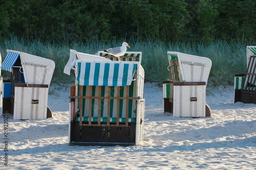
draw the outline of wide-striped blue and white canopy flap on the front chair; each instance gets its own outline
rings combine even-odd
[[[82,86],[131,85],[137,63],[76,61],[77,81]]]

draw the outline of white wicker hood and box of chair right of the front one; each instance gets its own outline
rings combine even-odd
[[[210,112],[205,103],[206,84],[211,60],[178,52],[167,52],[177,56],[180,82],[173,82],[173,115],[179,117],[202,117]],[[170,62],[170,59],[169,59]]]

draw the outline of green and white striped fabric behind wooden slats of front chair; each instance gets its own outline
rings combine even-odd
[[[78,88],[78,93],[83,96],[89,96],[90,95],[90,86],[82,86],[82,92],[80,91],[81,86]],[[108,96],[108,86],[92,86],[92,96]],[[111,86],[110,87],[110,95],[111,97],[117,97],[118,89],[119,89],[119,96],[125,97],[126,96],[126,88],[127,86]],[[137,84],[136,81],[133,81],[132,84],[129,86],[129,92],[128,97],[136,97],[137,96]],[[106,122],[106,117],[108,117],[108,99],[80,99],[82,100],[82,116],[83,121],[88,121],[89,118],[89,110],[91,109],[91,116],[92,121],[97,122],[98,121],[98,112],[100,110],[100,117],[103,122]],[[89,100],[92,100],[91,106]],[[100,102],[100,104],[99,104]],[[135,122],[136,114],[136,100],[129,99],[129,105],[128,105],[128,117],[129,122]],[[80,105],[80,102],[78,102],[78,108]],[[90,108],[91,107],[91,108]],[[80,111],[81,113],[81,111]],[[110,120],[111,122],[116,122],[117,117],[117,100],[111,99],[110,100]],[[120,122],[125,122],[126,117],[126,100],[125,99],[119,99],[119,120]],[[76,117],[76,121],[79,120],[79,117]],[[102,122],[101,121],[101,122]]]

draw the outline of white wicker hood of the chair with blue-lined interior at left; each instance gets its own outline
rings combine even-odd
[[[55,63],[52,60],[20,52],[20,60],[28,84],[47,84],[52,80]]]

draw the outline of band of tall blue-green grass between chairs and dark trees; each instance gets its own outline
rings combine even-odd
[[[52,44],[50,42],[40,42],[38,40],[26,41],[21,38],[12,37],[0,42],[2,62],[7,52],[15,50],[32,55],[45,57],[55,62],[53,80],[55,83],[73,83],[74,74],[71,76],[63,74],[63,69],[69,60],[70,49],[81,53],[95,54],[98,51],[110,47],[120,46],[121,41],[91,41],[87,43],[73,44]],[[131,48],[128,51],[142,52],[142,66],[145,70],[145,81],[162,82],[169,77],[167,51],[181,52],[191,55],[208,57],[212,61],[208,85],[233,85],[234,74],[246,70],[246,45],[243,41],[227,43],[215,41],[213,43],[165,43],[163,41],[138,41],[130,40]],[[3,76],[9,74],[2,71]],[[71,71],[73,72],[73,71]]]

